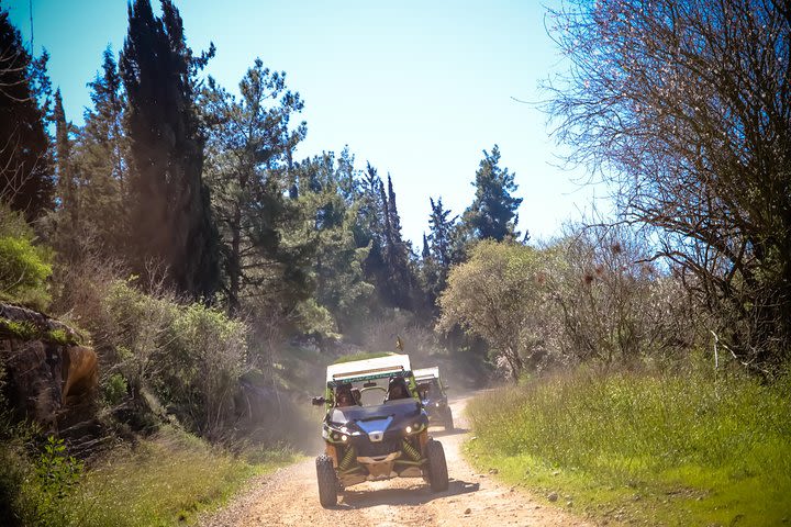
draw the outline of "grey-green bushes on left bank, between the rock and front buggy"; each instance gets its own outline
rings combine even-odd
[[[246,363],[246,325],[200,303],[180,305],[124,282],[109,290],[104,303],[105,327],[97,344],[118,350],[115,368],[131,395],[147,391],[190,430],[221,439],[234,418],[233,395]],[[122,395],[121,381],[105,384],[113,397]]]

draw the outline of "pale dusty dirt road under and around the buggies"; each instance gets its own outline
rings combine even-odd
[[[532,501],[531,496],[492,481],[465,462],[460,447],[467,438],[463,411],[466,397],[450,406],[457,429],[432,435],[445,448],[450,486],[434,494],[421,478],[361,483],[345,491],[338,505],[319,504],[313,459],[255,480],[227,507],[203,518],[202,527],[220,526],[588,526],[587,522]],[[317,431],[316,431],[317,433]]]

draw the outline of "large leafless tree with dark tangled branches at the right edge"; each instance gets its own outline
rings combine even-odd
[[[791,2],[571,0],[556,136],[758,369],[791,349]]]

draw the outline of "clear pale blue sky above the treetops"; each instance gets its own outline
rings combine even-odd
[[[30,1],[3,2],[30,38]],[[567,66],[544,27],[545,4],[559,0],[371,2],[176,1],[188,44],[216,45],[208,74],[235,90],[256,57],[285,70],[305,101],[308,138],[297,158],[349,146],[392,176],[404,237],[420,248],[428,198],[454,214],[474,198],[482,150],[500,146],[501,166],[516,175],[524,199],[520,227],[549,238],[590,209],[583,173],[557,166],[562,149],[548,136],[547,115],[513,98],[547,97],[541,80]],[[158,2],[155,2],[158,3]],[[82,122],[86,83],[103,49],[118,52],[126,33],[125,0],[32,0],[36,55],[51,54],[67,119]],[[602,189],[595,190],[602,198]]]

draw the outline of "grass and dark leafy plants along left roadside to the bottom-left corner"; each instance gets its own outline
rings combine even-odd
[[[90,470],[49,439],[44,453],[29,463],[23,451],[4,456],[0,444],[0,492],[11,487],[8,523],[46,527],[171,526],[194,522],[198,513],[227,500],[245,480],[293,461],[281,447],[259,449],[255,462],[218,451],[204,441],[165,428],[134,449],[119,447]],[[0,494],[3,495],[3,494]],[[2,503],[2,502],[0,502]],[[4,511],[0,507],[1,514]]]

